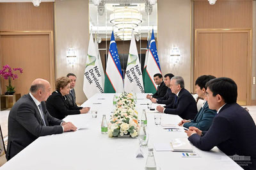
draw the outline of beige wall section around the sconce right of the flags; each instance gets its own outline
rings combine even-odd
[[[157,52],[163,75],[173,73],[182,76],[185,88],[191,91],[191,1],[161,0],[157,1],[157,7]],[[173,45],[180,49],[177,65],[173,65],[170,57]]]

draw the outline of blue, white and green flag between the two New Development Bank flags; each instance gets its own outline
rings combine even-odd
[[[113,31],[109,45],[104,91],[105,93],[122,93],[124,91],[123,74]]]

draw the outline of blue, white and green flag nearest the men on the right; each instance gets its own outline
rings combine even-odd
[[[156,73],[161,73],[160,63],[158,59],[156,41],[154,36],[154,30],[152,30],[150,47],[148,52],[148,62],[145,74],[145,92],[146,93],[156,93],[157,87],[154,82],[154,75]]]

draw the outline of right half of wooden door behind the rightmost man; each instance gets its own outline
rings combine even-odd
[[[237,100],[246,103],[247,89],[247,33],[223,34],[223,77],[230,77],[237,84]]]

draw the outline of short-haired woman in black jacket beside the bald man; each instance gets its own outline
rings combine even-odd
[[[70,114],[82,114],[90,110],[89,107],[83,109],[69,109],[65,100],[70,91],[70,79],[68,77],[60,77],[56,80],[56,91],[52,92],[52,95],[46,101],[46,107],[51,116],[62,120]]]

